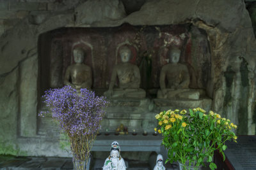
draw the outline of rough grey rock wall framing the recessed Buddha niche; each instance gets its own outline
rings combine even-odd
[[[36,134],[38,36],[61,27],[117,27],[193,24],[206,32],[211,53],[212,110],[238,125],[237,134],[255,134],[255,36],[241,0],[150,0],[129,10],[122,1],[74,1],[55,11],[28,15],[0,41],[0,153],[67,156],[59,143]],[[77,5],[79,4],[79,5]],[[227,8],[228,6],[228,8]],[[195,54],[196,55],[196,54]]]

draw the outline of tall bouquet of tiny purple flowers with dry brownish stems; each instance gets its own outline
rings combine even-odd
[[[43,97],[52,118],[60,122],[61,130],[68,135],[74,159],[87,164],[109,104],[106,97],[96,96],[87,89],[78,93],[70,86],[47,90]],[[39,116],[44,117],[45,114],[41,112]]]

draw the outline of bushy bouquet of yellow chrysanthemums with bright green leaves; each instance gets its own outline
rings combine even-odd
[[[163,135],[162,144],[168,148],[166,162],[205,166],[206,159],[211,162],[209,167],[214,169],[216,164],[212,157],[217,149],[225,159],[225,141],[233,139],[236,142],[237,136],[231,129],[237,126],[213,111],[205,113],[202,108],[195,108],[189,109],[189,113],[186,110],[168,110],[156,115],[158,127],[155,131]]]

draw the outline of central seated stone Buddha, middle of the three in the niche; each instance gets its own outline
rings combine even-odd
[[[122,63],[117,64],[112,71],[109,90],[104,92],[107,97],[132,97],[143,98],[146,92],[140,89],[140,69],[138,66],[131,64],[131,50],[127,46],[120,48],[120,57]],[[113,89],[118,78],[118,88]]]

